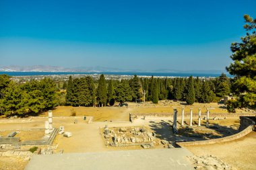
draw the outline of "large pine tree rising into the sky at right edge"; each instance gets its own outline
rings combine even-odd
[[[256,108],[256,19],[244,15],[247,34],[242,42],[232,43],[230,56],[233,63],[226,70],[234,75],[232,92],[236,102],[228,102],[229,108]],[[232,105],[232,106],[230,106]]]

